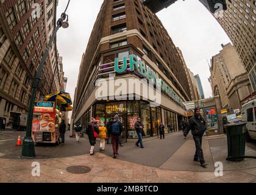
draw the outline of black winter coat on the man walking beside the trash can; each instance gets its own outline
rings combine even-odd
[[[194,115],[188,121],[188,126],[185,128],[183,135],[185,137],[187,137],[188,133],[191,130],[191,133],[194,138],[202,137],[206,130],[205,124],[206,124],[206,122],[205,122],[204,118],[202,118],[202,116],[198,117],[198,116]]]

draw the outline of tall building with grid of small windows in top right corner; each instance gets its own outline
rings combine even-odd
[[[215,17],[232,40],[256,94],[256,1],[226,2],[227,10]]]

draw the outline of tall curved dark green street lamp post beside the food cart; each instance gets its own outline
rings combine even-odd
[[[69,5],[69,1],[68,1],[68,5]],[[35,76],[35,79],[34,79],[34,82],[32,85],[32,94],[31,94],[31,98],[30,98],[30,102],[29,102],[29,112],[27,115],[26,137],[23,140],[23,147],[22,147],[22,151],[21,151],[21,157],[24,157],[24,158],[34,158],[35,157],[34,141],[32,140],[32,137],[31,137],[34,101],[36,98],[35,96],[37,94],[37,88],[38,88],[38,85],[41,80],[40,79],[41,72],[43,70],[44,63],[48,57],[49,49],[51,48],[52,41],[54,41],[54,38],[57,34],[57,31],[60,29],[60,27],[63,27],[64,29],[66,29],[68,27],[68,15],[66,15],[66,10],[68,9],[68,5],[66,5],[65,12],[62,13],[62,15],[60,16],[60,18],[57,21],[57,26],[55,27],[54,32],[52,33],[52,36],[49,40],[49,43],[46,46],[46,51],[43,54],[43,58],[41,59],[37,74]]]

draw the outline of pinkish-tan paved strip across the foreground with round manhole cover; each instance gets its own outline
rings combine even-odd
[[[31,174],[33,161],[40,163],[40,177],[33,177]],[[77,165],[88,166],[91,171],[85,174],[72,174],[66,171],[66,168]],[[224,171],[223,177],[215,177],[214,172],[170,171],[129,163],[99,153],[93,156],[79,155],[76,157],[36,160],[0,158],[0,182],[256,183],[256,168]]]

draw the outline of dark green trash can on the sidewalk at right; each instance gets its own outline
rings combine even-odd
[[[227,159],[229,161],[244,160],[244,152],[246,146],[246,123],[238,122],[227,124]]]

